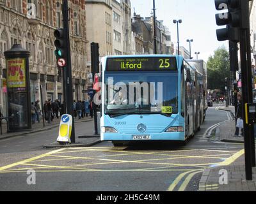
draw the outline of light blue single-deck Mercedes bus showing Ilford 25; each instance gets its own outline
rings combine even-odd
[[[102,141],[180,141],[200,129],[203,75],[181,56],[102,58]]]

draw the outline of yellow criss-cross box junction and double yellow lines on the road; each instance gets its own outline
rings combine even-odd
[[[205,156],[191,156],[190,151],[210,151],[210,152],[220,152],[220,154],[212,154],[212,155],[205,155]],[[112,152],[113,154],[110,155],[100,155],[100,156],[92,156],[92,157],[79,157],[79,156],[67,156],[63,154],[74,154],[77,152]],[[115,152],[121,153],[121,154],[115,154]],[[173,152],[177,154],[172,154]],[[182,152],[183,154],[180,154]],[[185,153],[188,152],[189,155],[185,155]],[[229,152],[229,154],[227,154]],[[165,153],[165,154],[164,154]],[[170,153],[170,154],[168,154]],[[174,180],[174,182],[168,187],[168,191],[173,191],[179,184],[182,179],[184,179],[184,182],[182,182],[179,186],[179,191],[185,191],[189,182],[191,182],[191,179],[197,174],[201,173],[205,170],[205,168],[208,168],[211,164],[216,164],[216,166],[226,166],[234,163],[237,158],[242,156],[244,154],[244,150],[240,150],[239,152],[236,152],[234,154],[234,151],[225,151],[225,150],[211,150],[211,149],[189,149],[189,150],[170,150],[170,151],[161,151],[161,152],[138,152],[138,151],[129,151],[124,150],[124,148],[70,148],[70,149],[59,149],[54,150],[52,152],[48,152],[46,154],[42,154],[40,156],[32,157],[30,159],[25,159],[23,161],[19,161],[17,163],[9,164],[6,166],[0,167],[0,173],[19,173],[24,172],[31,168],[35,168],[35,170],[38,170],[38,172],[109,172],[109,171],[177,171],[182,172],[179,174],[179,176]],[[89,153],[89,155],[91,155]],[[134,155],[150,155],[150,156],[159,156],[160,158],[156,159],[143,159],[143,160],[125,160],[125,159],[111,159],[111,157],[120,157],[120,156],[134,156]],[[224,156],[229,156],[228,158],[225,158]],[[161,156],[166,156],[166,158],[161,158]],[[44,157],[51,157],[52,159],[42,159]],[[221,163],[205,163],[205,164],[182,164],[179,163],[157,163],[154,161],[163,161],[163,160],[174,160],[174,159],[225,159],[225,161]],[[51,162],[51,161],[61,161],[61,160],[90,160],[90,161],[99,161],[96,163],[84,163],[84,164],[76,164],[73,166],[59,166],[58,164],[52,165],[52,164],[38,164],[37,162]],[[92,168],[92,166],[97,165],[108,165],[108,164],[124,164],[124,163],[136,163],[136,164],[150,164],[148,167],[142,167],[138,169],[97,169]],[[158,167],[152,167],[152,165],[162,165]],[[11,169],[15,166],[20,166],[20,168],[17,169]],[[23,167],[22,167],[23,166]],[[28,168],[26,168],[28,166]],[[91,166],[90,168],[86,168],[87,166]],[[193,166],[194,169],[186,169],[186,166]],[[183,167],[183,168],[182,168]],[[212,186],[216,187],[216,186]]]

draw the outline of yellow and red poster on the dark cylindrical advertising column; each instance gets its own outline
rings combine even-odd
[[[26,59],[9,59],[7,62],[9,91],[26,91]]]

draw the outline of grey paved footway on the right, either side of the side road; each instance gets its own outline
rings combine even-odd
[[[218,107],[217,109],[230,112],[232,119],[227,120],[225,124],[216,128],[216,138],[220,138],[221,142],[244,143],[242,136],[234,136],[236,131],[234,106],[228,108]],[[230,161],[207,168],[200,180],[199,191],[256,191],[256,168],[253,167],[252,171],[253,180],[246,180],[244,150],[241,150]]]

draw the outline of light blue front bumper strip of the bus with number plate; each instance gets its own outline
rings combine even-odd
[[[145,139],[140,139],[143,137]],[[170,140],[170,141],[184,141],[185,140],[185,133],[144,133],[144,134],[121,134],[121,133],[101,133],[100,134],[101,141],[124,141],[124,142],[131,142],[131,141],[161,141],[161,140]]]

